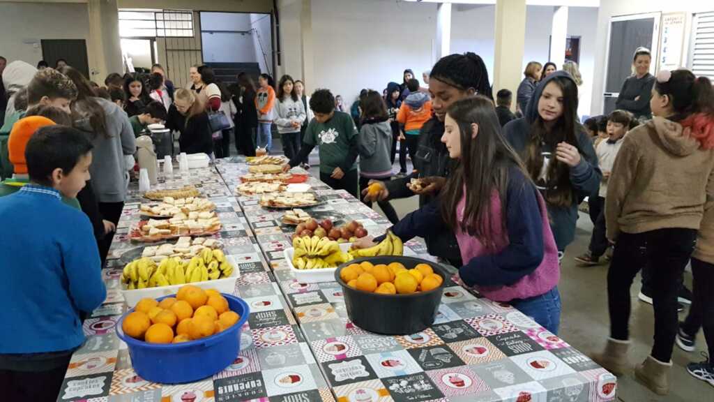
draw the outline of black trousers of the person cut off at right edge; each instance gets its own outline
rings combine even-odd
[[[689,315],[682,323],[682,330],[694,337],[699,328],[704,328],[709,363],[714,364],[714,264],[692,258],[692,276],[694,300]]]

